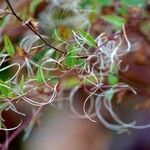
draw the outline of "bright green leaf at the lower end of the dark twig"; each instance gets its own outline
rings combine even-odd
[[[70,45],[68,48],[68,52],[64,64],[69,68],[74,67],[77,62],[76,56],[77,56],[77,48],[74,45]]]

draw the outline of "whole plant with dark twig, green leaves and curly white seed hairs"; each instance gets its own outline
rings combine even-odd
[[[0,80],[1,130],[14,130],[19,128],[19,126],[24,128],[22,121],[16,127],[6,128],[1,115],[2,111],[11,109],[15,113],[25,116],[24,113],[18,111],[15,107],[15,104],[20,101],[25,101],[31,106],[38,107],[28,122],[28,132],[25,138],[28,137],[43,106],[48,104],[56,106],[55,103],[62,104],[64,101],[69,103],[71,111],[75,114],[74,117],[88,118],[92,122],[96,122],[94,118],[97,117],[104,126],[119,133],[129,131],[128,129],[150,127],[150,124],[138,126],[136,121],[125,123],[113,110],[112,99],[116,93],[130,90],[136,94],[132,87],[126,83],[119,83],[117,78],[121,58],[129,53],[131,49],[124,25],[122,25],[122,31],[111,35],[102,33],[95,39],[84,30],[72,30],[73,36],[68,41],[65,41],[55,30],[55,36],[61,44],[61,46],[58,45],[59,48],[56,48],[47,42],[48,36],[38,33],[31,20],[22,20],[15,13],[9,0],[5,1],[10,7],[11,14],[34,34],[29,33],[23,37],[20,45],[18,45],[17,54],[9,36],[3,36],[5,47],[0,52],[0,72],[9,69],[13,70],[13,72],[6,81]],[[74,11],[75,17],[77,17],[77,15],[80,16],[77,11],[78,2],[52,0],[50,9],[53,10],[55,7],[59,7],[63,8],[64,12],[71,10]],[[69,20],[64,18],[64,22],[68,24],[68,22],[72,22],[72,19],[75,22],[77,21],[71,17]],[[87,19],[86,21],[88,24]],[[6,62],[10,63],[3,67]],[[76,72],[74,76],[77,79],[75,79],[75,84],[71,84],[68,88],[64,84],[64,79],[72,71]],[[84,87],[88,93],[83,104],[84,115],[79,114],[73,104],[74,97],[81,87]],[[66,90],[69,94],[65,94]],[[102,107],[109,112],[116,124],[106,121],[101,112]]]

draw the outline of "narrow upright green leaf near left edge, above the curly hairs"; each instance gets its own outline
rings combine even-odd
[[[6,49],[7,53],[10,56],[13,56],[15,54],[15,50],[14,50],[11,40],[7,34],[4,35],[4,45],[5,45],[5,49]]]

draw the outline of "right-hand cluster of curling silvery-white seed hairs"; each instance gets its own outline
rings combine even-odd
[[[93,90],[87,90],[89,92],[89,96],[85,99],[84,104],[83,104],[83,112],[84,115],[80,115],[77,110],[75,109],[73,103],[74,103],[74,95],[77,93],[79,90],[80,86],[77,86],[76,88],[72,89],[70,92],[70,108],[73,113],[75,113],[76,117],[78,118],[88,118],[92,122],[96,122],[93,118],[95,116],[98,117],[100,122],[107,128],[111,130],[115,130],[118,133],[123,133],[123,132],[129,132],[129,129],[145,129],[149,128],[150,124],[147,125],[137,125],[137,121],[134,120],[131,123],[126,123],[122,121],[122,119],[114,112],[113,106],[112,106],[112,98],[115,93],[118,93],[123,90],[131,90],[134,94],[136,94],[136,91],[130,87],[129,85],[125,83],[118,83],[116,85],[103,85],[103,80],[105,77],[109,76],[112,72],[112,69],[114,65],[117,65],[119,67],[121,63],[121,57],[123,55],[126,55],[131,51],[131,44],[130,41],[128,40],[126,31],[125,31],[125,26],[122,26],[122,31],[123,31],[123,36],[121,35],[116,35],[118,40],[108,40],[108,35],[106,33],[102,33],[101,35],[96,38],[96,43],[97,43],[97,50],[93,54],[92,57],[96,57],[97,59],[95,64],[92,64],[93,67],[90,67],[91,64],[87,63],[80,69],[83,74],[80,76],[82,79],[85,81],[88,81],[90,84],[92,84],[94,87],[92,88]],[[86,43],[86,40],[84,37],[80,36],[78,33],[73,31],[73,36],[74,40],[79,46],[79,50],[85,51],[86,54],[87,52],[90,51],[89,49],[85,48],[84,45]],[[105,44],[104,44],[105,43]],[[126,48],[124,45],[127,45]],[[91,57],[91,55],[89,55]],[[99,64],[99,76],[97,76],[94,67]],[[105,71],[110,69],[110,71]],[[85,74],[86,73],[86,74]],[[93,79],[90,80],[87,75],[93,76]],[[103,87],[107,87],[108,90],[103,91],[102,93],[97,93],[98,90],[102,90]],[[86,107],[86,103],[90,102],[90,105],[88,108]],[[93,112],[93,102],[95,103],[95,112]],[[102,105],[103,104],[103,105]],[[112,119],[116,122],[116,124],[109,123],[106,121],[106,119],[103,117],[103,114],[101,112],[102,107],[108,111]]]

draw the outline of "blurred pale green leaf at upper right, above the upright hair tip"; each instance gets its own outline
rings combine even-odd
[[[116,27],[122,27],[122,24],[125,24],[126,21],[124,18],[116,16],[116,15],[105,15],[101,17],[103,20],[105,20],[108,23],[113,24]]]

